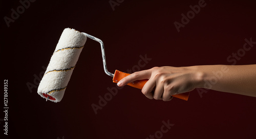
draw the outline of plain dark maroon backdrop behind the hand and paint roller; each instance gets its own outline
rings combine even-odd
[[[186,15],[189,6],[198,2],[124,0],[113,11],[109,1],[37,0],[7,27],[4,17],[11,18],[11,9],[16,11],[21,4],[1,1],[2,82],[8,79],[9,85],[8,136],[0,121],[1,136],[147,138],[157,133],[158,138],[256,138],[256,98],[218,91],[200,96],[194,90],[188,101],[163,102],[147,99],[140,90],[127,86],[117,89],[95,114],[91,105],[99,105],[99,96],[104,97],[116,84],[103,71],[99,43],[90,39],[61,102],[46,102],[37,94],[42,67],[47,67],[66,27],[104,42],[110,72],[231,65],[227,58],[243,48],[245,38],[256,41],[255,2],[206,0],[206,6],[178,33],[174,22],[181,22],[181,14]],[[255,64],[255,52],[255,47],[246,51],[236,65]],[[145,54],[152,60],[138,69],[140,55]],[[3,84],[1,92],[3,109]],[[161,134],[162,121],[168,120],[174,126]]]

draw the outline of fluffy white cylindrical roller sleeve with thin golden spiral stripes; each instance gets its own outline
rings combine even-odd
[[[47,98],[43,94],[52,96],[55,100],[48,100],[53,102],[59,102],[62,99],[86,39],[84,34],[74,29],[68,28],[62,32],[45,75],[38,86],[37,93],[41,97]]]

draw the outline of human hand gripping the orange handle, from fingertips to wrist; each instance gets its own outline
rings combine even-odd
[[[141,92],[150,99],[169,101],[172,95],[189,92],[199,87],[202,74],[197,67],[154,67],[134,72],[118,82],[122,87],[135,80],[148,79]],[[155,89],[155,90],[154,90]]]

